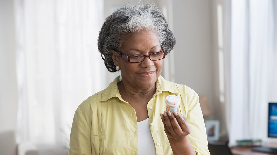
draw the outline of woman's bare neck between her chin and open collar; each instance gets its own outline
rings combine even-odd
[[[130,84],[126,84],[124,81],[117,83],[119,93],[122,98],[142,99],[151,98],[156,92],[156,82],[154,85],[148,88],[135,88]]]

